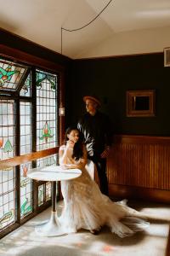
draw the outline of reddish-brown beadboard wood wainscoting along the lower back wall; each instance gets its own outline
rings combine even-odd
[[[170,203],[170,137],[115,136],[107,174],[113,197]]]

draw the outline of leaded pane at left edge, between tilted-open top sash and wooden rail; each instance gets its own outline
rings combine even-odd
[[[14,157],[14,102],[0,100],[0,160]]]

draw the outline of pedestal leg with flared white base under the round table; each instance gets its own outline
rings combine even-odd
[[[57,218],[56,210],[56,182],[51,182],[52,184],[52,212],[51,218],[48,223],[42,224],[41,226],[36,227],[36,232],[39,236],[61,236],[66,234],[65,231],[59,224]]]

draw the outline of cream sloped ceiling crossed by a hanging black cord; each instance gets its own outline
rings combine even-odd
[[[61,27],[93,20],[109,0],[0,0],[0,27],[61,53]],[[112,0],[92,24],[63,31],[63,55],[77,58],[123,32],[170,26],[170,0]]]

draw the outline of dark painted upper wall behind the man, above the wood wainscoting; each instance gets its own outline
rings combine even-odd
[[[85,112],[82,96],[95,94],[103,102],[116,134],[170,135],[170,67],[163,53],[77,60],[66,90],[66,125]],[[156,117],[126,117],[127,90],[156,90]]]

